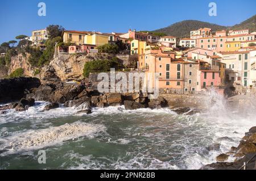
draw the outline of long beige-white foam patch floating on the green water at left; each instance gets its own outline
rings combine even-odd
[[[22,151],[36,150],[47,146],[60,144],[63,141],[78,137],[94,137],[94,133],[104,131],[103,125],[94,125],[77,121],[59,127],[30,130],[16,133],[2,138],[0,150],[7,150],[3,154],[13,154]]]

